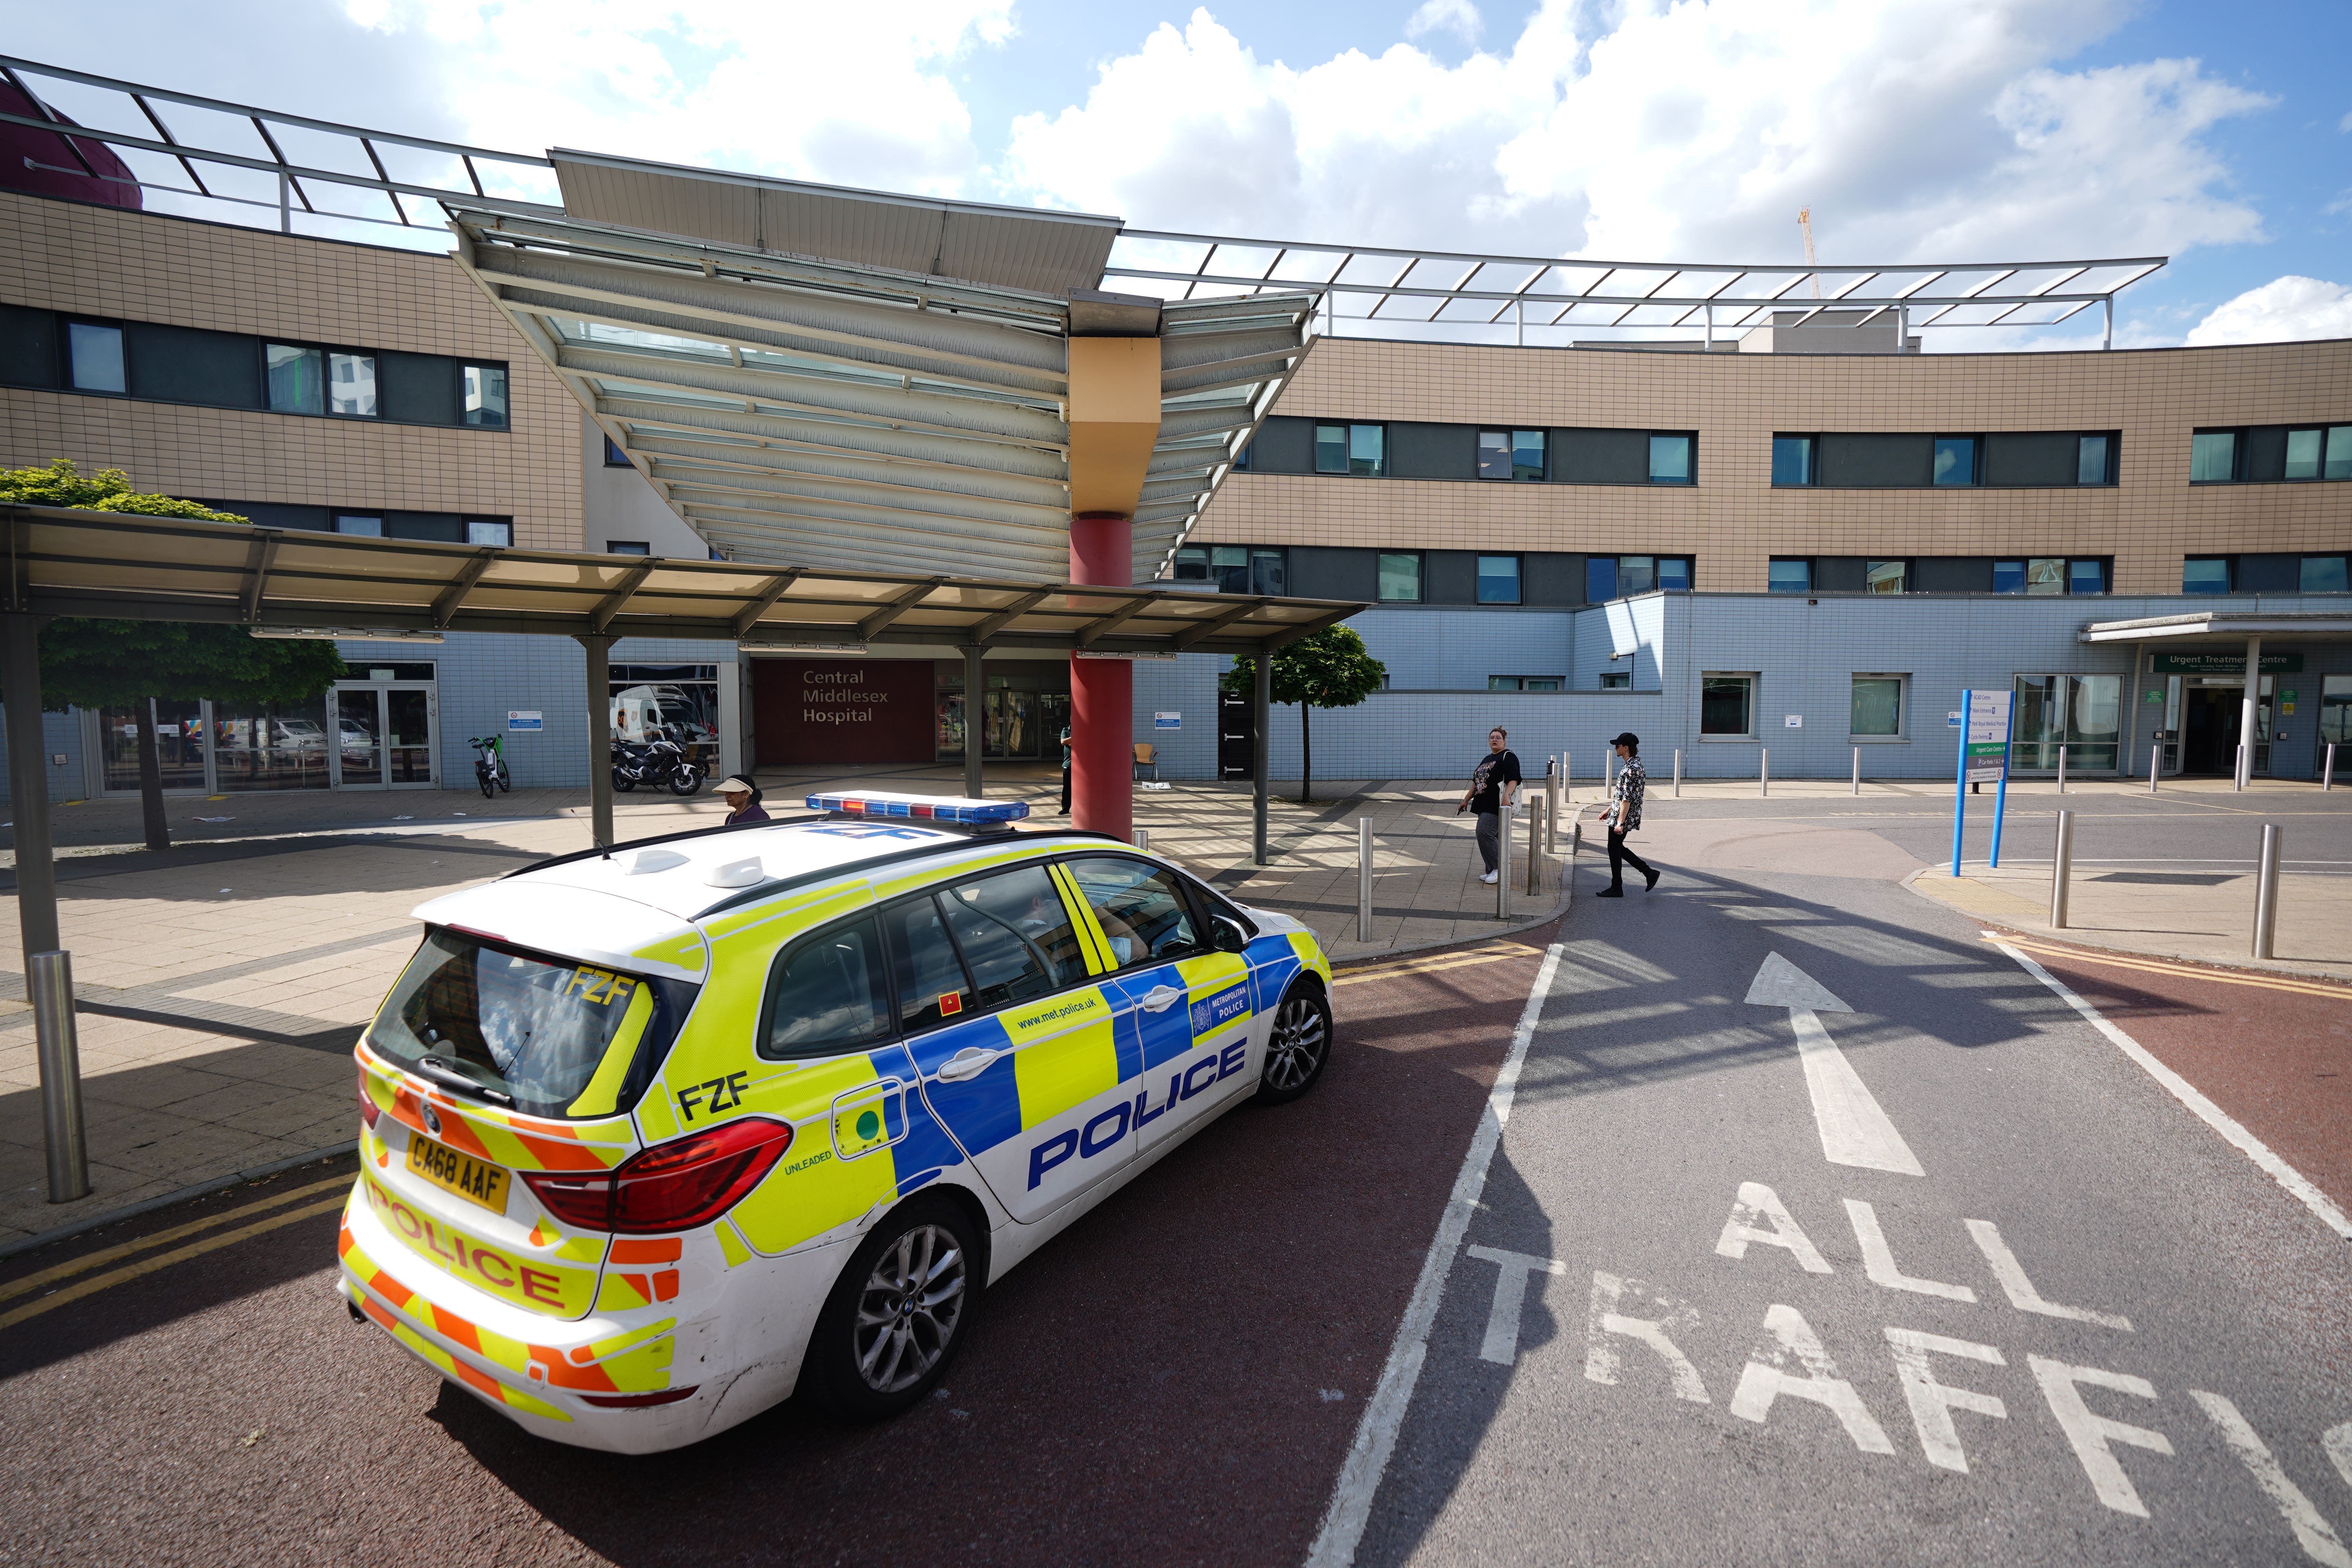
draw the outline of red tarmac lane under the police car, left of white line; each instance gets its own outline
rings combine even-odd
[[[524,1436],[348,1319],[334,1213],[16,1324],[42,1295],[0,1295],[0,1563],[1296,1563],[1550,938],[1343,973],[1315,1093],[1218,1119],[1021,1265],[946,1394],[880,1427]],[[0,1293],[334,1173],[12,1258]]]

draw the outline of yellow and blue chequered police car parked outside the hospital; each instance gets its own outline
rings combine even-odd
[[[353,1316],[543,1436],[913,1406],[985,1284],[1218,1112],[1294,1100],[1331,966],[1018,802],[546,860],[416,910],[358,1046]]]

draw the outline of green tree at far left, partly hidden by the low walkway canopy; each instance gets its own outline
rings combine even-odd
[[[73,505],[89,512],[245,522],[195,501],[132,489],[120,468],[85,477],[66,458],[47,468],[0,470],[0,501]],[[139,797],[148,849],[169,849],[162,816],[162,759],[148,698],[226,703],[308,703],[343,677],[332,642],[263,642],[242,625],[188,621],[52,621],[40,632],[42,705],[129,708],[139,724]]]

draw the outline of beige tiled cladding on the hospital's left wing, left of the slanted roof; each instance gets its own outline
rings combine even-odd
[[[379,425],[0,388],[0,465],[73,458],[139,489],[485,512],[581,550],[579,404],[447,256],[0,193],[0,301],[508,364],[510,430]]]

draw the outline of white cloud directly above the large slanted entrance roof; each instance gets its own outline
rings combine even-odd
[[[1011,38],[1011,0],[346,0],[379,33],[423,33],[447,106],[487,146],[630,153],[894,190],[978,172],[948,80]]]

